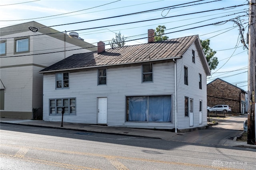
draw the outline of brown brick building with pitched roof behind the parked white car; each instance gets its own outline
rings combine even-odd
[[[207,84],[207,106],[225,104],[233,113],[246,113],[247,92],[220,78]]]

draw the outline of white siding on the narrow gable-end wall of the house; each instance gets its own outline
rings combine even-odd
[[[195,63],[192,62],[192,50],[195,51]],[[188,85],[184,84],[184,66],[188,68]],[[202,74],[202,89],[199,89],[199,74]],[[178,129],[187,129],[207,125],[206,73],[196,46],[191,45],[182,59],[177,60],[177,121]],[[194,100],[194,126],[190,127],[190,118],[185,117],[184,98]],[[202,124],[199,124],[199,101],[202,100]]]

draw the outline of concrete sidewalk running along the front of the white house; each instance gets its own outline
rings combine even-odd
[[[118,135],[131,135],[140,137],[158,138],[168,141],[182,141],[188,143],[201,143],[211,145],[226,145],[234,147],[248,147],[255,148],[256,145],[248,145],[246,142],[236,141],[236,137],[239,136],[243,131],[222,129],[218,125],[214,128],[207,128],[192,132],[174,133],[164,130],[153,130],[153,129],[136,129],[136,128],[121,128],[121,127],[108,127],[104,125],[90,125],[90,124],[77,124],[77,123],[63,123],[42,121],[42,120],[24,120],[24,119],[11,119],[11,118],[0,118],[1,123],[16,124],[16,125],[27,125],[34,127],[48,127],[58,129],[70,129],[77,131],[95,132],[95,133],[108,133]],[[217,129],[216,129],[217,128]]]

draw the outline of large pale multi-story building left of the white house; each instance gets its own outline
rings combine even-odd
[[[0,28],[1,117],[42,117],[43,76],[38,72],[70,55],[96,50],[78,33],[67,35],[35,21]]]

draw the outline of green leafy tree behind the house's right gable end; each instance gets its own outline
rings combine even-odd
[[[210,70],[214,70],[219,64],[218,58],[214,57],[214,55],[216,54],[216,51],[213,51],[210,48],[210,40],[209,39],[206,39],[204,41],[200,40],[200,43],[203,47],[204,55],[206,56],[206,60],[208,62]]]

